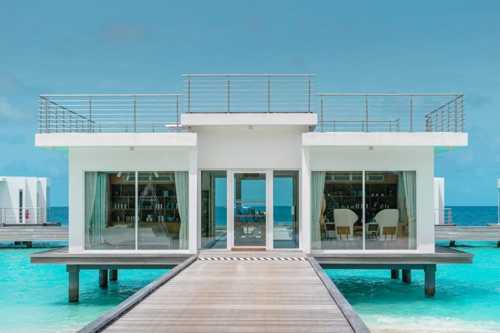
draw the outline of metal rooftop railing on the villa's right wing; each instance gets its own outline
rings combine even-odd
[[[463,94],[316,94],[317,131],[463,132]]]

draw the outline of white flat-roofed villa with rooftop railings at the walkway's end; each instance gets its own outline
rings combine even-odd
[[[435,253],[434,155],[467,145],[462,94],[315,93],[313,74],[183,75],[182,89],[40,96],[35,144],[69,158],[69,246],[45,263]]]

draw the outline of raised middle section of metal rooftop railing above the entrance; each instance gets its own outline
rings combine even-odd
[[[182,103],[194,112],[313,112],[315,74],[185,74]]]

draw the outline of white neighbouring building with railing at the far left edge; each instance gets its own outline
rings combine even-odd
[[[41,224],[48,220],[50,178],[0,176],[0,224]]]

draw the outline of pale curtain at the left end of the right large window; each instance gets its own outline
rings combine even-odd
[[[311,171],[311,248],[321,248],[321,204],[323,203],[325,171]]]

